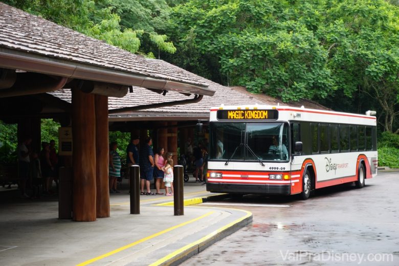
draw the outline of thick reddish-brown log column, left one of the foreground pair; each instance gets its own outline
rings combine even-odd
[[[96,117],[94,94],[72,90],[73,220],[96,220]]]

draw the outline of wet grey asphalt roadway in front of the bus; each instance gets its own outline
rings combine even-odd
[[[399,265],[399,172],[380,172],[366,186],[295,197],[206,203],[245,209],[253,224],[182,265]]]

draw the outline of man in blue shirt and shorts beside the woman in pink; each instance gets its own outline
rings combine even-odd
[[[148,137],[140,148],[140,179],[141,179],[141,195],[155,195],[150,190],[150,182],[153,179],[154,170],[154,152],[151,148],[152,139]],[[147,192],[144,192],[144,184]]]

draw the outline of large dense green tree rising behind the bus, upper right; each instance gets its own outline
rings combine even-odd
[[[205,66],[211,77],[283,101],[375,99],[385,130],[392,131],[398,18],[398,8],[384,0],[191,0],[173,7],[167,35],[178,53],[192,53],[196,73],[207,63],[202,58],[216,58],[218,68]],[[170,61],[190,60],[182,57]]]

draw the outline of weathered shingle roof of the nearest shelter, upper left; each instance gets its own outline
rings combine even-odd
[[[204,79],[159,60],[149,60],[101,40],[0,3],[0,53],[3,49],[97,66],[147,77],[207,86]]]

